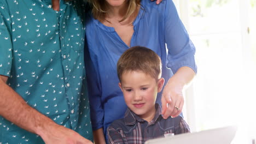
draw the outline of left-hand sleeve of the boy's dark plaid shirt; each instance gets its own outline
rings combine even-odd
[[[107,136],[108,136],[108,143],[109,144],[127,143],[123,139],[122,134],[118,130],[114,129],[111,125],[107,129]]]

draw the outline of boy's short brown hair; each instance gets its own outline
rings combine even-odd
[[[159,80],[162,74],[160,57],[147,47],[134,46],[126,50],[118,60],[117,71],[121,82],[121,76],[127,71],[141,70],[143,73]]]

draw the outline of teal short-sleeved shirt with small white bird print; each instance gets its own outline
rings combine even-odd
[[[92,140],[84,66],[84,3],[0,1],[0,75],[28,105]],[[0,143],[44,143],[0,117]]]

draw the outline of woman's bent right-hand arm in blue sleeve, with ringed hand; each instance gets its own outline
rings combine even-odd
[[[179,19],[176,7],[165,1],[165,42],[168,54],[166,66],[173,72],[162,93],[162,115],[176,117],[182,112],[184,98],[182,91],[196,74],[195,47]]]

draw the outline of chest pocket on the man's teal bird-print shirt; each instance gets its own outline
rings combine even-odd
[[[75,52],[82,52],[84,49],[85,28],[79,16],[69,17],[67,31],[69,34],[70,47]]]

